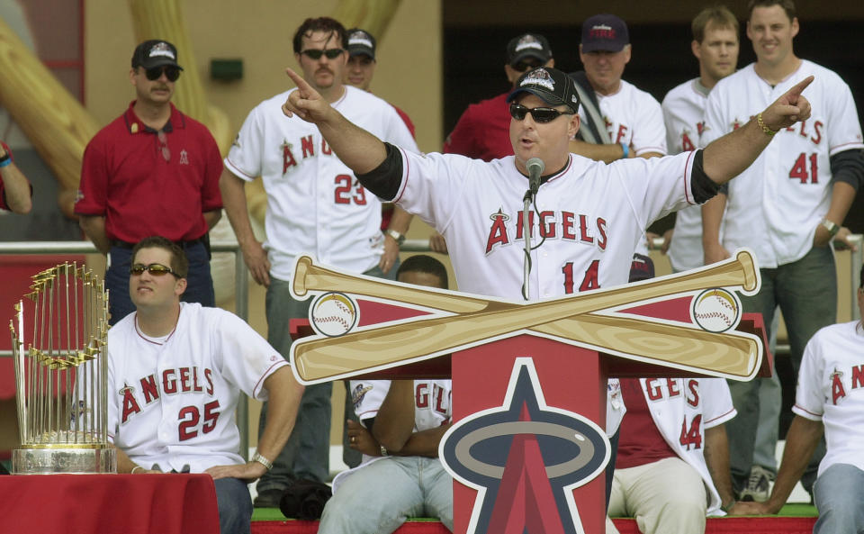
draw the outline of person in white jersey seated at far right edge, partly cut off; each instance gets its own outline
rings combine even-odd
[[[858,310],[864,317],[864,267]],[[833,324],[814,334],[801,360],[792,411],[770,499],[746,503],[746,512],[777,513],[824,434],[825,456],[813,486],[819,509],[813,532],[864,532],[864,322]]]

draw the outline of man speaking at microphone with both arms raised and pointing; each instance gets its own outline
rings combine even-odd
[[[580,102],[575,82],[555,68],[536,68],[518,79],[507,97],[514,155],[490,162],[418,155],[385,143],[349,122],[293,70],[288,76],[298,88],[283,113],[316,124],[370,192],[441,232],[461,291],[529,301],[626,284],[648,224],[705,203],[750,166],[772,139],[762,123],[778,131],[806,120],[810,104],[801,91],[813,81],[806,78],[705,149],[605,164],[570,153]],[[539,167],[536,189],[532,167]],[[537,214],[528,219],[527,235],[523,199],[535,204]],[[622,414],[617,421],[610,415],[608,410],[607,434]]]

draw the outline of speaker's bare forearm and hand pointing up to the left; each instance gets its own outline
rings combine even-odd
[[[338,158],[356,174],[365,174],[383,163],[387,151],[373,134],[348,121],[291,68],[285,68],[297,90],[282,105],[285,115],[297,115],[318,126]]]

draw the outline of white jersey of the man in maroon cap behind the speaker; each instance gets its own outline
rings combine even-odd
[[[614,95],[595,95],[613,143],[625,143],[636,156],[648,152],[666,154],[666,129],[657,99],[625,80],[621,80],[621,87]],[[582,106],[579,114],[586,116]],[[635,252],[648,255],[644,236],[637,243]]]

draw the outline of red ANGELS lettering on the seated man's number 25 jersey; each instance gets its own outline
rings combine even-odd
[[[166,369],[161,374],[150,374],[139,380],[139,388],[125,384],[119,392],[122,397],[121,424],[141,411],[141,405],[154,403],[160,394],[207,394],[213,396],[212,371],[198,367]]]

